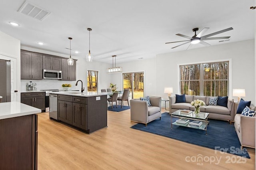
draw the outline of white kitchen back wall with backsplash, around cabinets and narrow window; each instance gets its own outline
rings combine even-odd
[[[55,53],[51,51],[46,51],[42,49],[36,49],[32,47],[21,46],[21,49],[34,51],[39,53],[45,53],[50,55],[57,55],[60,57],[69,58],[69,55]],[[80,55],[71,55],[73,59],[77,59],[76,61],[76,81],[82,80],[83,87],[86,91],[86,76],[87,70],[94,70],[99,71],[99,82],[98,82],[98,89],[106,89],[109,87],[110,82],[112,80],[112,76],[106,73],[106,69],[110,67],[110,64],[101,63],[97,61],[93,61],[92,63],[86,62],[85,54],[82,56]],[[58,81],[58,80],[21,80],[21,89],[22,91],[26,91],[26,83],[32,81],[37,84],[37,89],[62,89],[61,85],[64,83],[71,84],[72,88],[70,90],[81,90],[81,83],[79,82],[77,86],[75,86],[76,81]]]

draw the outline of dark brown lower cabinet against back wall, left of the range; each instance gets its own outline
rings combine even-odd
[[[21,103],[45,110],[45,92],[21,93]]]

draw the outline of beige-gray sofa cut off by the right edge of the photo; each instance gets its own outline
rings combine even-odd
[[[250,109],[255,111],[255,106],[250,105]],[[255,115],[248,117],[241,114],[236,114],[234,119],[234,126],[237,136],[243,146],[255,148]]]

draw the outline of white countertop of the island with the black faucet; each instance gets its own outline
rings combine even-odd
[[[50,92],[50,94],[56,95],[70,95],[70,96],[80,96],[80,97],[91,97],[91,96],[104,96],[111,95],[111,92],[97,93],[97,92],[85,92],[81,93],[79,91],[58,91],[58,92]]]

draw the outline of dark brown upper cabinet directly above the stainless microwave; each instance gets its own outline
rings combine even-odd
[[[61,58],[43,55],[43,69],[61,70]]]

